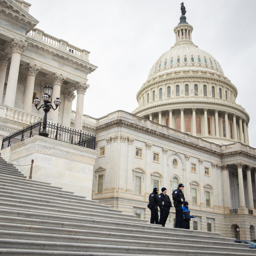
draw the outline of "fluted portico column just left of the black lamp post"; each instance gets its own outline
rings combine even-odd
[[[27,77],[27,84],[26,84],[25,95],[24,95],[23,110],[27,112],[31,112],[35,78],[40,69],[41,68],[37,67],[36,64],[32,65],[31,63],[28,63],[28,66],[26,68],[28,77]]]

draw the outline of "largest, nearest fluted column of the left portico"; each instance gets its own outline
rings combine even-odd
[[[10,107],[14,107],[20,68],[20,57],[26,46],[26,43],[15,38],[11,41],[10,48],[12,49],[12,60],[4,99],[4,104]]]

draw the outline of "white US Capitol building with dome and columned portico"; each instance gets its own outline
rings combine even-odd
[[[89,199],[150,219],[154,187],[171,195],[183,183],[191,229],[256,238],[256,149],[249,146],[249,115],[236,104],[237,88],[220,63],[192,41],[181,15],[176,42],[153,64],[133,113],[100,118],[83,114],[89,75],[97,66],[89,51],[35,28],[30,4],[0,3],[0,137],[43,118],[32,104],[46,84],[61,105],[48,121],[96,135],[95,150],[42,136],[1,150],[2,157],[32,179],[51,182]],[[93,85],[92,85],[93,86]],[[76,111],[72,101],[77,92]],[[43,168],[45,164],[51,171]],[[24,165],[24,166],[21,166]],[[173,227],[175,209],[167,223]]]

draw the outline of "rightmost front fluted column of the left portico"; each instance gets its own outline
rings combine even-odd
[[[84,94],[89,88],[89,85],[86,83],[76,83],[75,89],[77,92],[77,101],[76,101],[76,116],[75,116],[75,130],[82,130],[83,126],[83,109],[84,109]]]

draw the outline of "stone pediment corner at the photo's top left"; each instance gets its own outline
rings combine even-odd
[[[0,1],[0,19],[25,29],[26,34],[39,22],[12,0]]]

